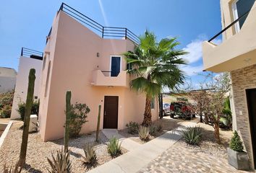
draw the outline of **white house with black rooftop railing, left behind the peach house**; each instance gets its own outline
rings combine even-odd
[[[34,100],[38,100],[40,75],[42,71],[43,53],[36,50],[22,48],[20,55],[20,63],[17,74],[14,98],[12,102],[12,114],[11,119],[20,118],[17,112],[18,105],[22,102],[26,102],[27,99],[27,86],[28,86],[28,74],[30,68],[35,68],[35,88],[34,88]]]

